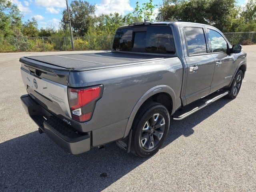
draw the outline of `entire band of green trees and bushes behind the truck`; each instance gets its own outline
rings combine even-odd
[[[75,50],[109,50],[116,28],[144,18],[153,20],[157,5],[153,0],[126,15],[118,13],[95,15],[96,6],[85,0],[70,4]],[[159,8],[158,21],[185,21],[210,24],[222,32],[256,31],[256,0],[237,6],[235,0],[164,0]],[[0,0],[0,52],[72,50],[67,10],[62,12],[61,29],[53,26],[38,30],[34,18],[22,24],[18,7]],[[256,42],[254,33],[225,34],[233,44]],[[39,37],[38,37],[39,36]],[[65,37],[65,38],[64,38]]]

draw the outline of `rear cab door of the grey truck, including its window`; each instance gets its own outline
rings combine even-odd
[[[206,41],[206,28],[200,25],[181,27],[185,40],[184,56],[186,60],[187,82],[185,97],[189,104],[210,93],[215,61],[210,54]]]

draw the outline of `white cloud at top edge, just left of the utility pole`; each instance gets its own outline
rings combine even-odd
[[[64,0],[35,0],[35,4],[45,6],[46,13],[59,14],[60,8],[66,7]]]

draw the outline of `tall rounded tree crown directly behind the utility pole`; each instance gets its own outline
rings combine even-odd
[[[74,35],[84,36],[88,29],[95,22],[96,6],[91,5],[87,1],[74,0],[70,3],[70,21],[74,30]],[[65,9],[62,12],[61,26],[65,30],[67,28],[68,15]]]

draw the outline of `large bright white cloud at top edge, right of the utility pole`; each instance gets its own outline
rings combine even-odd
[[[96,4],[96,8],[96,15],[110,14],[114,12],[125,14],[125,12],[133,10],[129,0],[126,0],[126,2],[120,2],[120,0],[101,0],[100,4]]]

